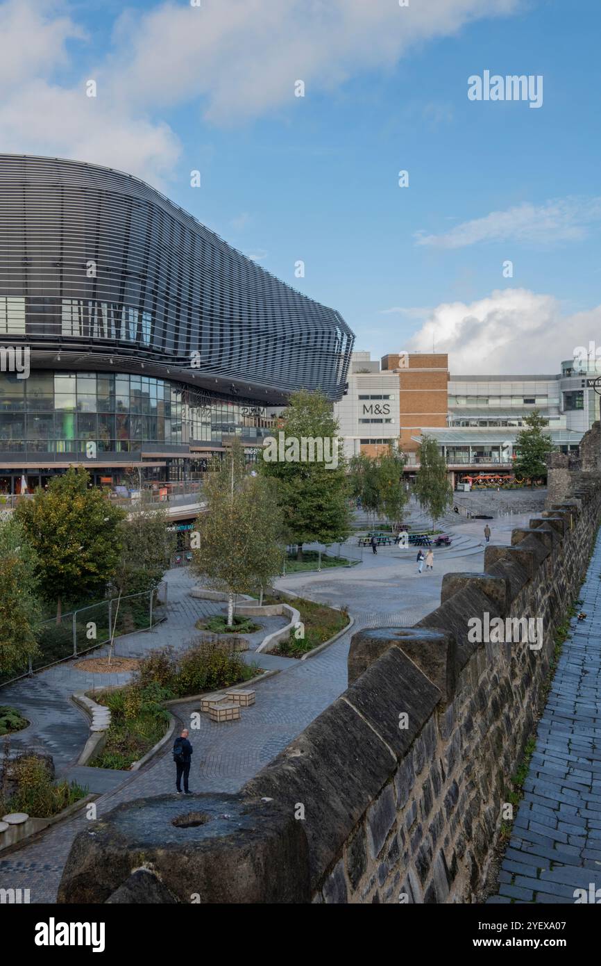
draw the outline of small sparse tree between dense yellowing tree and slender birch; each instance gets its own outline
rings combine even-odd
[[[169,522],[166,508],[152,504],[142,491],[119,526],[122,551],[113,582],[120,593],[154,590],[162,581],[178,541]]]

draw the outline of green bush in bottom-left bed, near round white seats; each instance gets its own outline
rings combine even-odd
[[[9,802],[1,803],[3,814],[4,810],[25,811],[34,818],[51,818],[88,793],[74,781],[55,784],[46,763],[34,755],[19,758],[10,770],[16,790]]]

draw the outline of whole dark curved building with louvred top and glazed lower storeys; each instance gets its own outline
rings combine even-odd
[[[232,437],[258,450],[294,390],[341,398],[340,314],[149,185],[0,155],[0,211],[0,492],[75,464],[193,479]]]

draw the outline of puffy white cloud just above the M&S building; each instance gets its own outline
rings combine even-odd
[[[565,314],[553,296],[492,292],[469,304],[444,302],[409,340],[410,351],[449,353],[452,375],[556,373],[577,346],[599,342],[601,305]]]

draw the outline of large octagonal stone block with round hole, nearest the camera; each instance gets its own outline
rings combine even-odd
[[[143,866],[188,906],[192,895],[203,904],[311,900],[304,823],[275,802],[160,795],[87,824],[68,854],[60,903],[129,901],[142,889],[132,872]],[[148,880],[144,889],[149,895]]]

